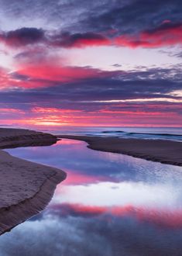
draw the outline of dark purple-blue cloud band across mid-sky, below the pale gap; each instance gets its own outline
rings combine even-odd
[[[97,71],[98,72],[98,71]],[[161,98],[176,99],[170,92],[180,90],[180,68],[153,68],[146,71],[104,71],[101,77],[80,78],[77,81],[46,81],[46,88],[15,89],[1,92],[1,102],[80,102],[112,99]],[[12,73],[12,78],[22,81],[42,81],[21,73]],[[68,101],[68,102],[67,102]],[[54,103],[53,103],[54,104]]]

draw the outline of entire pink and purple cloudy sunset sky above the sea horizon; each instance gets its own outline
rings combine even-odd
[[[182,126],[180,0],[0,6],[1,126]]]

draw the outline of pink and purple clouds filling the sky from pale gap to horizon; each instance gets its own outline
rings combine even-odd
[[[65,67],[49,58],[44,63],[22,61],[16,71],[1,69],[0,108],[18,109],[21,113],[15,116],[15,112],[10,112],[4,118],[7,124],[28,126],[112,125],[116,120],[118,125],[119,120],[127,121],[125,125],[130,120],[139,124],[180,125],[180,69],[178,65],[101,71],[92,67]],[[167,113],[170,120],[165,117]]]

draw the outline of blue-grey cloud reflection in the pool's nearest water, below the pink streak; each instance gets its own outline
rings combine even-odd
[[[163,232],[129,217],[50,215],[4,234],[0,256],[180,256],[181,239],[181,230]]]

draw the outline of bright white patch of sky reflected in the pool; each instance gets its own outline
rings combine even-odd
[[[155,206],[159,209],[182,207],[182,188],[143,182],[100,182],[91,185],[58,185],[52,203],[82,203],[89,206]],[[74,195],[74,196],[73,196]]]

